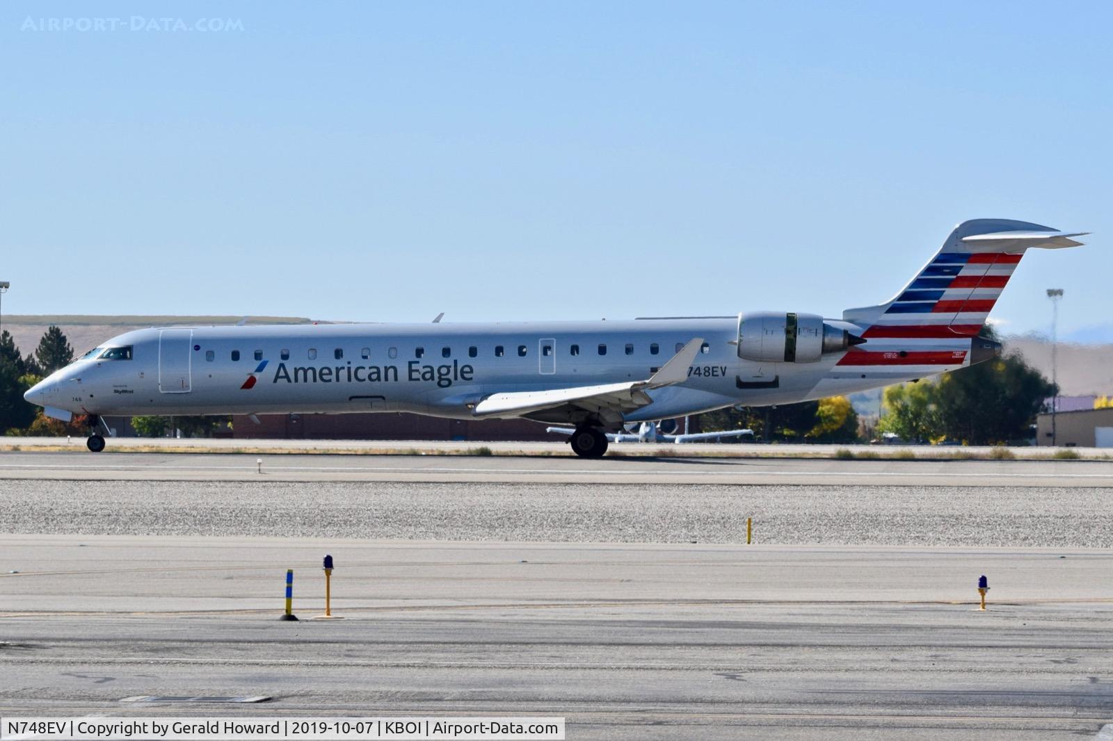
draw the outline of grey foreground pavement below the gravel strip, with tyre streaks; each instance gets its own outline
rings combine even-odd
[[[345,620],[312,622],[326,552]],[[1107,551],[17,535],[0,561],[4,715],[536,713],[570,739],[1067,739],[1113,717]],[[287,567],[298,623],[276,620]],[[120,703],[167,694],[273,700]]]

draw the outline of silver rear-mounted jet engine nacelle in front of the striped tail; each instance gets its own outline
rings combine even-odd
[[[816,363],[825,353],[841,353],[864,342],[816,314],[747,312],[738,315],[738,357],[747,360]]]

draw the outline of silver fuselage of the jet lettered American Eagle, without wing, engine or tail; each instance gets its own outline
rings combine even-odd
[[[142,329],[101,346],[130,348],[115,354],[126,357],[79,359],[28,398],[48,413],[96,415],[392,411],[470,418],[474,405],[495,393],[648,378],[693,337],[705,345],[687,382],[653,389],[652,404],[624,421],[799,402],[895,379],[833,382],[844,353],[815,363],[741,359],[738,326],[730,317]],[[909,368],[903,375],[924,374]],[[575,422],[555,409],[522,416]]]

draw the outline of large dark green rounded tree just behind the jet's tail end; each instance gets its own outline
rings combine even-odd
[[[1030,437],[1044,399],[1054,393],[1038,370],[1018,353],[1009,353],[944,375],[936,386],[936,404],[948,438],[994,445]]]

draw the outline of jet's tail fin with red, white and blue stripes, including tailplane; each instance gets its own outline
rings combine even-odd
[[[1082,243],[1071,237],[1082,234],[1007,219],[964,221],[892,300],[844,312],[866,343],[839,358],[836,377],[896,381],[968,365],[971,340],[1024,251],[1074,247]]]

